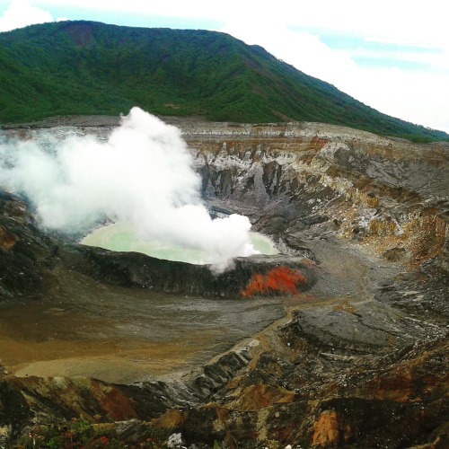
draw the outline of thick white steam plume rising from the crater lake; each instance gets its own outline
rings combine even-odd
[[[138,108],[107,142],[72,136],[51,150],[0,142],[0,185],[26,194],[48,228],[129,221],[144,240],[206,251],[217,270],[257,252],[246,216],[209,216],[180,130]]]

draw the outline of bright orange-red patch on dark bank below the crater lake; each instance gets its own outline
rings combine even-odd
[[[297,286],[305,284],[307,277],[299,269],[278,267],[271,269],[267,274],[252,275],[250,282],[240,294],[244,297],[253,295],[269,295],[273,293],[298,295]]]

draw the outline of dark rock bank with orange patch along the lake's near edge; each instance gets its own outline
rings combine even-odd
[[[102,282],[182,295],[297,295],[316,280],[313,266],[304,264],[304,258],[282,255],[236,258],[233,267],[215,273],[207,265],[83,245],[63,245],[58,254],[66,266]],[[257,285],[251,288],[255,279]]]

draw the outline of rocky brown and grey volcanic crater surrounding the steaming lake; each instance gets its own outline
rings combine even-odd
[[[449,147],[313,123],[176,123],[209,208],[248,216],[281,254],[216,274],[87,247],[42,233],[3,193],[9,441],[82,413],[192,447],[444,447]]]

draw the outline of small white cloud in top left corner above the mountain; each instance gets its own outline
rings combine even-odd
[[[30,0],[13,0],[0,17],[0,31],[11,31],[34,23],[53,22],[47,11],[31,5]]]

